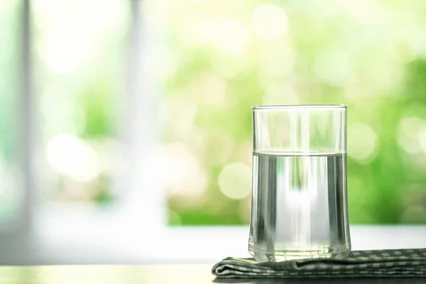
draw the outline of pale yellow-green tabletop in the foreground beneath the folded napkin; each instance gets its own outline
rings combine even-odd
[[[215,279],[212,265],[153,266],[0,266],[0,283],[151,284],[151,283],[426,283],[423,279]]]

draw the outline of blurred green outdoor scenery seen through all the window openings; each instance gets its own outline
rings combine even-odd
[[[15,182],[5,118],[16,108],[20,4],[0,4],[0,174]],[[114,179],[131,6],[31,7],[40,195],[110,208],[125,192]],[[249,222],[256,104],[347,104],[351,224],[426,224],[425,1],[159,0],[142,11],[156,38],[146,62],[160,82],[156,163],[170,224]],[[0,193],[15,198],[11,185]]]

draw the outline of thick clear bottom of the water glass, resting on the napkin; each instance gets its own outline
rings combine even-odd
[[[282,250],[282,251],[261,251],[253,246],[249,246],[249,253],[258,262],[265,261],[290,261],[293,259],[307,258],[329,258],[332,256],[344,257],[351,251],[346,244],[317,248],[315,250]]]

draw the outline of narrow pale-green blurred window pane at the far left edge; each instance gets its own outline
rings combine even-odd
[[[21,1],[0,3],[0,230],[20,222],[23,180],[18,123]]]

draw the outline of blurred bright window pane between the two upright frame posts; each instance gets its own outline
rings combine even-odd
[[[109,207],[120,194],[129,2],[31,4],[40,194]]]

